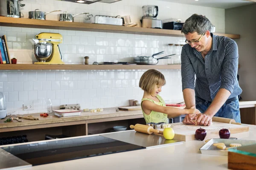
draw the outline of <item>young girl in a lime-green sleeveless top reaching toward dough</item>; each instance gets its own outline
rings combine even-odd
[[[146,123],[169,123],[168,117],[173,118],[183,114],[200,113],[200,111],[194,107],[190,109],[166,107],[164,100],[158,95],[162,91],[162,86],[165,84],[166,80],[164,75],[154,69],[146,71],[140,78],[139,86],[144,91],[140,105]],[[167,117],[167,115],[169,116]]]

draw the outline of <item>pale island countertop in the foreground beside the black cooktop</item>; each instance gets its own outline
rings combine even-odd
[[[247,125],[250,130],[239,139],[256,140],[256,126]],[[134,130],[130,130],[134,131]],[[116,132],[122,134],[123,132]],[[104,134],[106,135],[106,133]],[[76,137],[77,138],[77,137]],[[58,139],[55,139],[58,140]],[[104,156],[63,161],[52,164],[22,168],[20,170],[156,170],[156,169],[190,169],[190,170],[227,170],[227,156],[201,154],[204,141],[189,141],[182,144],[134,150]]]

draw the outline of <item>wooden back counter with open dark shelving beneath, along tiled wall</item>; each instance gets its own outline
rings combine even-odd
[[[240,101],[241,122],[256,125],[256,101]],[[175,107],[181,108],[184,107]],[[0,138],[27,134],[29,141],[44,140],[46,134],[64,134],[70,137],[88,134],[108,133],[116,125],[145,124],[142,111],[116,111],[115,108],[105,108],[103,112],[81,112],[80,116],[41,117],[40,113],[29,114],[39,120],[22,119],[23,122],[4,123],[0,120]],[[25,116],[25,115],[23,115]],[[29,137],[30,136],[30,137]]]

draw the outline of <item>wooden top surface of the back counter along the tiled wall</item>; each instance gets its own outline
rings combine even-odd
[[[256,101],[239,101],[239,106],[241,108],[245,107],[255,107]],[[175,107],[183,109],[185,107]],[[125,117],[125,116],[138,116],[143,118],[142,111],[116,111],[116,108],[104,108],[103,112],[96,112],[91,113],[81,111],[80,116],[68,116],[68,117],[61,117],[58,118],[56,116],[48,116],[48,117],[41,117],[40,113],[32,113],[29,115],[37,117],[39,120],[27,120],[22,119],[23,122],[7,122],[4,123],[4,119],[0,121],[0,129],[1,128],[8,128],[8,127],[22,127],[22,126],[30,126],[30,125],[44,125],[44,124],[53,124],[53,123],[63,123],[63,122],[75,122],[75,121],[88,121],[93,119],[106,119],[106,118],[117,118],[117,117]],[[21,115],[26,116],[26,115]],[[85,123],[85,122],[84,122]]]

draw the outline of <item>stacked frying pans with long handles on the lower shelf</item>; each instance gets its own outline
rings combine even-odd
[[[171,58],[169,56],[173,56],[173,55],[176,55],[176,54],[171,54],[171,55],[160,57],[160,58],[147,57],[147,56],[134,57],[134,62],[139,65],[156,65],[158,63],[158,59],[169,59]]]

